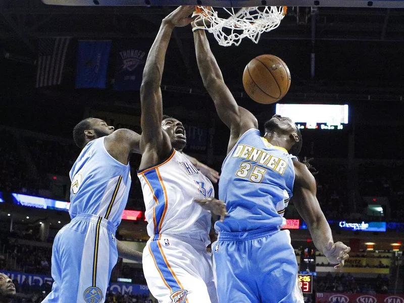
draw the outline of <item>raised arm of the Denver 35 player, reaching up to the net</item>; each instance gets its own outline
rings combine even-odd
[[[229,151],[245,131],[250,128],[258,128],[258,122],[254,115],[237,105],[229,88],[224,83],[222,72],[211,51],[205,31],[195,30],[193,37],[196,61],[204,85],[215,103],[220,119],[231,131]]]

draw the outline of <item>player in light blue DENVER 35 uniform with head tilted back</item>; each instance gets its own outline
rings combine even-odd
[[[225,85],[203,30],[194,31],[196,58],[204,85],[221,120],[230,128],[227,157],[219,181],[219,197],[228,217],[217,222],[212,251],[220,302],[303,302],[297,263],[283,213],[293,195],[316,247],[342,267],[349,247],[333,241],[316,198],[316,181],[295,156],[301,134],[289,119],[275,115],[265,123],[239,107]],[[200,203],[212,203],[212,199]]]

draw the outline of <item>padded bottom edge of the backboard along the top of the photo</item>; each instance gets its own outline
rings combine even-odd
[[[179,6],[200,5],[216,8],[299,6],[404,8],[404,0],[42,0],[58,6]]]

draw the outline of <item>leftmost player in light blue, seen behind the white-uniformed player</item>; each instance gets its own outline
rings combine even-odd
[[[104,302],[118,256],[141,262],[141,252],[116,240],[131,185],[129,157],[139,153],[140,135],[114,131],[103,120],[88,118],[73,131],[82,148],[70,171],[70,217],[57,234],[52,253],[52,292],[43,302]],[[217,180],[217,172],[191,161]]]

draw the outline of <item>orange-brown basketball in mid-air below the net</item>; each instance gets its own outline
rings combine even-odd
[[[286,64],[273,55],[261,55],[252,59],[244,69],[243,85],[255,102],[278,102],[290,87],[290,72]]]

